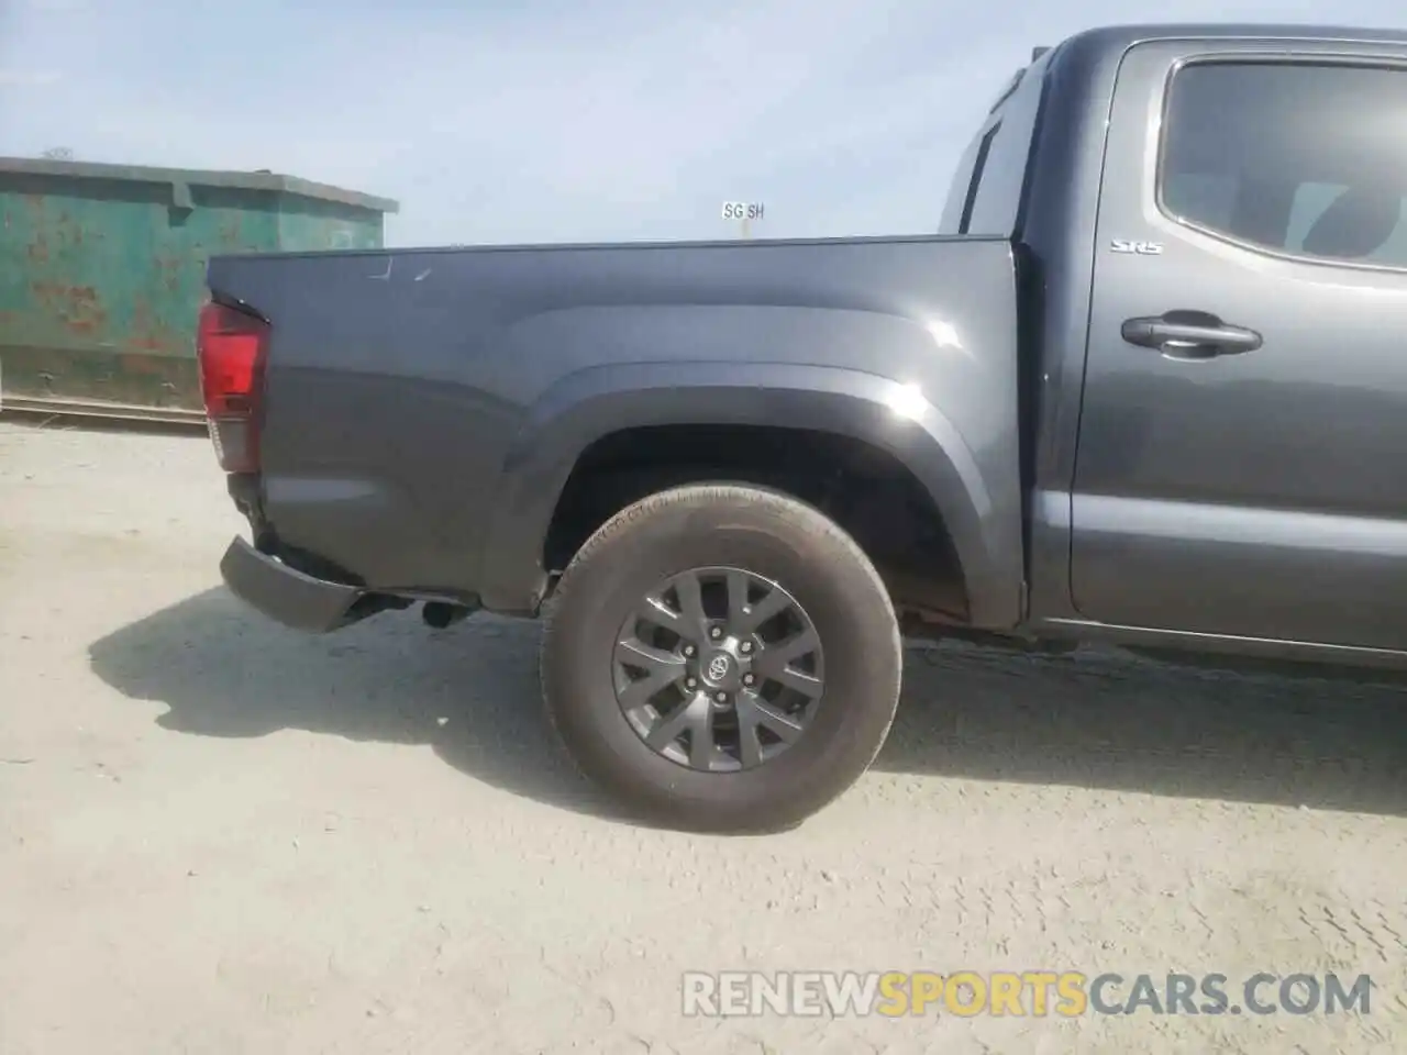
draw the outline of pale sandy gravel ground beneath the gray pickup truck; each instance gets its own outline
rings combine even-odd
[[[287,633],[203,437],[0,423],[0,1052],[1400,1052],[1403,691],[913,647],[796,831],[615,819],[537,627]],[[1362,972],[1366,1016],[685,1018],[685,971]]]

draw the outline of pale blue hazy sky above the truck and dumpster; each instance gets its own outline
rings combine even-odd
[[[0,0],[0,155],[272,169],[387,243],[931,232],[1037,45],[1137,21],[1407,28],[1400,0]]]

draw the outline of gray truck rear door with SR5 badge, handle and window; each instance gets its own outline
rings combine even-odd
[[[1407,69],[1292,48],[1123,60],[1071,585],[1104,623],[1407,648]]]

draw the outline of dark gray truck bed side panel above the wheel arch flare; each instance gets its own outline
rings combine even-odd
[[[578,408],[574,421],[587,426],[553,428],[553,416],[574,412],[573,392],[609,395],[598,391],[608,374],[629,390],[687,370],[681,384],[696,398],[671,404],[687,421],[736,419],[737,394],[753,392],[744,404],[765,423],[801,414],[806,428],[851,429],[843,412],[808,415],[782,395],[770,402],[758,370],[779,367],[798,398],[834,388],[836,377],[851,378],[836,398],[892,402],[898,392],[888,423],[867,428],[917,429],[926,439],[900,449],[922,461],[937,443],[961,466],[971,506],[961,516],[975,525],[968,549],[982,564],[971,571],[1009,598],[996,622],[1019,618],[1016,293],[1003,241],[224,257],[210,283],[273,322],[269,519],[283,542],[373,587],[480,592],[485,540],[545,530],[578,453],[542,446],[584,446],[639,414],[640,401],[616,398],[609,415]],[[829,380],[817,373],[812,385],[806,370]],[[885,435],[864,439],[893,449]],[[532,474],[532,501],[522,473]],[[539,571],[512,568],[521,589],[499,575],[499,594],[485,599],[530,608]],[[508,596],[515,589],[522,598]]]

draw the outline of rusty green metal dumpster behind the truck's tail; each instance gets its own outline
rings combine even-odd
[[[397,208],[267,172],[0,158],[0,409],[200,421],[210,255],[378,249]]]

